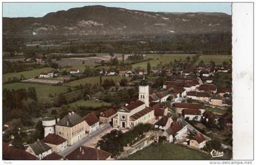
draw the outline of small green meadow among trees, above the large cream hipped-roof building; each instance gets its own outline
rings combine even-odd
[[[95,101],[95,100],[87,100],[80,99],[74,103],[68,104],[69,106],[82,106],[82,107],[102,107],[102,106],[111,106],[111,103],[107,103],[105,101]]]

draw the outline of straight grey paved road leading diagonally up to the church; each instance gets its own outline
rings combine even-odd
[[[99,136],[101,133],[107,132],[107,130],[110,129],[110,128],[111,128],[110,124],[108,124],[105,127],[102,127],[101,129],[97,130],[96,132],[93,132],[87,138],[84,138],[84,139],[78,141],[73,146],[67,147],[67,149],[63,150],[63,152],[60,152],[59,155],[62,155],[62,157],[66,157],[66,155],[68,155],[69,153],[73,152],[73,150],[77,149],[77,147],[83,146],[85,143],[87,143],[90,140],[93,140],[93,138],[95,138],[96,136]]]

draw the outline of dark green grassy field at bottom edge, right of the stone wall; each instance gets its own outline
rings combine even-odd
[[[213,160],[198,150],[180,144],[157,144],[133,153],[126,160]]]

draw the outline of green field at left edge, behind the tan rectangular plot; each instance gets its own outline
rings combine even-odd
[[[16,73],[5,73],[3,75],[3,81],[7,81],[7,78],[21,78],[21,75],[25,77],[25,79],[30,79],[30,78],[35,78],[35,76],[39,76],[41,72],[49,72],[53,68],[51,67],[43,67],[40,69],[34,69],[34,70],[29,70],[29,71],[24,71],[24,72],[16,72]]]

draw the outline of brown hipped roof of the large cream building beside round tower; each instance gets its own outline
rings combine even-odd
[[[83,121],[83,118],[77,115],[77,113],[69,112],[56,125],[64,127],[73,127],[79,123],[82,123]]]

